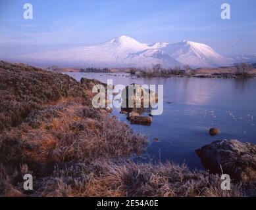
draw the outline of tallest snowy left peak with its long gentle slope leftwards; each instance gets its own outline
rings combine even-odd
[[[32,62],[50,62],[55,65],[126,67],[132,66],[124,60],[128,54],[149,49],[131,37],[122,35],[100,45],[76,47],[59,51],[47,51],[22,56]]]

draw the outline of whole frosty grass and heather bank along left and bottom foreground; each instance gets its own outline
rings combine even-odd
[[[244,196],[220,176],[128,161],[147,138],[91,107],[91,84],[0,62],[0,196]],[[34,190],[22,176],[34,177]]]

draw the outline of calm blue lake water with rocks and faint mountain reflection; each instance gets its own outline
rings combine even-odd
[[[164,85],[164,112],[151,126],[131,125],[151,142],[141,161],[186,163],[202,169],[195,150],[218,139],[237,138],[256,143],[256,79],[132,78],[128,74],[66,73],[75,79],[95,78],[114,85],[131,83]],[[116,75],[116,76],[115,76]],[[168,104],[171,102],[171,104]],[[122,121],[125,115],[114,110]],[[129,123],[129,122],[128,122]],[[222,133],[209,135],[211,127]],[[153,138],[159,138],[154,142]]]

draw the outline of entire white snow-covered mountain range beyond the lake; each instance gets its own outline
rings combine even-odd
[[[211,47],[192,41],[180,43],[140,43],[122,35],[99,45],[47,51],[20,56],[25,62],[81,67],[151,67],[162,64],[166,68],[183,66],[216,67],[233,64]]]

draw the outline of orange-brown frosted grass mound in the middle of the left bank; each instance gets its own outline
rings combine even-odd
[[[38,110],[0,137],[1,161],[31,163],[30,168],[40,168],[40,173],[56,163],[140,154],[147,143],[107,112],[76,103]]]

